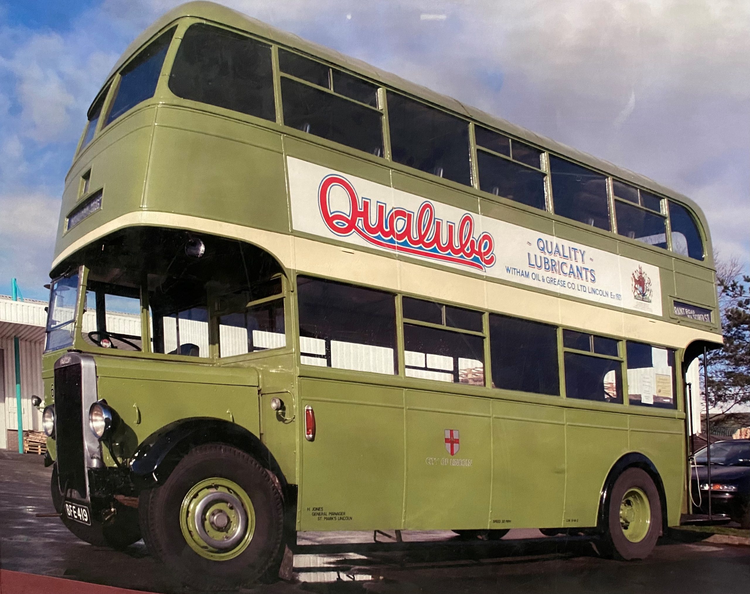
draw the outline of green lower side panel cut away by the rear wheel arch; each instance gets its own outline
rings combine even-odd
[[[628,449],[628,417],[595,410],[565,410],[565,526],[596,526],[601,487]]]

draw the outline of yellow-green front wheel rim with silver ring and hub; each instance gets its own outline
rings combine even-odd
[[[206,478],[182,499],[180,528],[185,541],[212,561],[234,559],[253,539],[255,509],[245,489],[228,478]]]

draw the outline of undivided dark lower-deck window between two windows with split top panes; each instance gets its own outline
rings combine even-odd
[[[559,395],[554,326],[490,315],[490,353],[493,388]]]

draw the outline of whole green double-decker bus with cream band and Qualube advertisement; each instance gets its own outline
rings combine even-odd
[[[249,583],[296,531],[688,513],[721,343],[691,200],[207,2],[124,52],[68,173],[44,427],[76,535]]]

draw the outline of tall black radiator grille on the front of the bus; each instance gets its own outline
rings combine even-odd
[[[67,484],[68,489],[77,490],[78,498],[86,499],[81,398],[81,366],[55,369],[55,441],[60,488]]]

